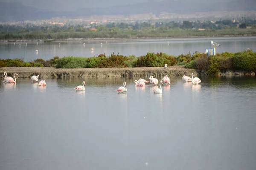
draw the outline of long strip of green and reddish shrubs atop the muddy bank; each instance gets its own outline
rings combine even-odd
[[[33,62],[24,62],[23,59],[0,59],[0,67],[55,67],[55,68],[125,68],[125,67],[163,67],[185,65],[185,68],[205,70],[209,75],[219,71],[244,70],[256,71],[256,52],[252,50],[237,53],[224,52],[215,56],[195,52],[179,56],[165,53],[147,53],[146,55],[123,56],[100,54],[97,57],[54,57],[44,61],[35,59]]]

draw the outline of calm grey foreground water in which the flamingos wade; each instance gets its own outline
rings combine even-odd
[[[256,78],[200,78],[1,83],[0,170],[255,170]]]

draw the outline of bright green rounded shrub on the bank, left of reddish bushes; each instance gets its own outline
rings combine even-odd
[[[87,58],[63,57],[57,60],[56,68],[85,68]]]

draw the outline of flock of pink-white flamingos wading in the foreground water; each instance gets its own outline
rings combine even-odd
[[[19,76],[17,73],[15,73],[15,74],[13,74],[13,77],[14,78],[12,78],[12,77],[7,77],[7,72],[6,71],[4,71],[4,80],[3,80],[3,83],[16,83],[16,77],[15,77],[15,75],[17,75],[17,76]],[[37,75],[37,76],[32,76],[31,78],[30,78],[30,81],[31,82],[37,82],[38,81],[38,77],[39,77],[39,75]],[[190,77],[188,77],[188,76],[186,76],[186,75],[184,75],[183,77],[182,77],[182,80],[184,81],[184,82],[192,82],[192,84],[199,84],[199,83],[201,83],[201,79],[199,79],[198,77],[194,77],[194,73],[192,73],[192,78],[190,78]],[[139,80],[135,80],[134,81],[134,83],[135,83],[135,86],[138,86],[138,87],[145,87],[145,84],[146,83],[151,83],[152,85],[157,85],[158,84],[158,79],[157,78],[154,78],[153,76],[150,76],[149,77],[149,81],[147,81],[147,80],[145,80],[145,79],[139,79]],[[161,85],[163,85],[163,83],[165,83],[165,85],[170,85],[171,84],[171,82],[170,82],[170,78],[168,77],[168,75],[166,75],[165,77],[163,77],[161,80],[160,80],[160,83],[159,83],[159,85],[160,85],[160,88],[155,88],[154,89],[154,93],[155,94],[162,94],[163,93],[163,91],[162,91],[162,87],[161,87]],[[41,80],[39,83],[38,83],[38,86],[40,86],[40,87],[46,87],[46,82],[45,82],[45,80]],[[76,88],[74,88],[76,91],[85,91],[85,87],[84,87],[84,85],[85,85],[85,82],[83,81],[82,82],[82,85],[79,85],[79,86],[77,86]],[[123,82],[123,86],[121,86],[121,87],[119,87],[119,88],[117,88],[116,89],[116,91],[118,92],[118,93],[124,93],[124,92],[126,92],[127,91],[127,85],[126,85],[126,82]]]

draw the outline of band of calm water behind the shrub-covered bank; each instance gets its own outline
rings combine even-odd
[[[126,56],[135,55],[137,57],[148,52],[163,52],[172,55],[187,54],[189,51],[205,52],[207,48],[212,48],[211,40],[218,42],[221,46],[216,47],[217,53],[225,51],[238,52],[247,48],[256,50],[256,37],[222,37],[222,38],[179,38],[179,39],[147,39],[147,40],[108,40],[103,41],[76,41],[76,42],[16,42],[8,45],[0,44],[0,58],[15,59],[23,58],[31,61],[37,58],[51,59],[55,56],[80,56],[93,57],[105,53],[110,55],[113,52]],[[100,44],[102,42],[102,45]],[[167,43],[169,42],[169,44]],[[58,44],[60,43],[60,45]],[[85,43],[85,45],[83,45]],[[93,48],[93,52],[90,50]],[[38,50],[38,54],[35,52]]]

